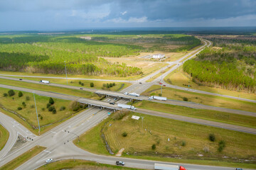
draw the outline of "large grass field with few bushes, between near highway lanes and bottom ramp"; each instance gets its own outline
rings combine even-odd
[[[142,120],[134,120],[132,115],[144,117],[143,128]],[[237,163],[245,159],[255,163],[256,135],[139,113],[129,113],[122,120],[107,118],[85,132],[80,142],[76,140],[75,144],[90,152],[107,154],[100,137],[103,125],[103,132],[112,151],[117,153],[124,148],[123,157],[256,168],[255,164]],[[127,137],[122,136],[123,132],[127,132]],[[208,139],[210,133],[215,135],[215,142]],[[218,152],[220,140],[225,141],[222,152]],[[156,145],[156,149],[151,149],[152,145]]]

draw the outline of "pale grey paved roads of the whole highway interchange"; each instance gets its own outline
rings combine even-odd
[[[172,66],[173,64],[176,64],[174,67],[169,69],[166,73],[163,74],[163,77],[165,77],[167,74],[170,72],[174,71],[177,67],[180,67],[182,65],[182,62],[184,59],[188,60],[191,57],[194,57],[200,50],[203,49],[207,45],[206,40],[203,40],[205,45],[202,47],[199,47],[197,50],[191,52],[190,54],[182,57],[181,59],[177,60],[176,62],[171,62],[167,67]],[[208,42],[208,46],[210,46],[211,43]],[[193,55],[191,55],[193,54]],[[191,56],[190,56],[191,55]],[[190,57],[188,57],[190,56]],[[159,79],[161,77],[158,77],[154,79],[154,81],[151,81],[150,83],[146,83],[147,79],[150,79],[150,77],[154,77],[156,74],[159,74],[161,70],[154,72],[154,74],[151,74],[147,77],[144,77],[142,79],[139,79],[137,81],[129,81],[132,83],[131,86],[127,87],[126,89],[123,89],[121,93],[118,92],[111,92],[116,95],[122,96],[124,92],[136,92],[138,94],[142,93],[146,89],[148,89],[150,86],[154,84],[159,84]],[[10,76],[10,75],[9,75]],[[16,75],[14,75],[17,77]],[[10,78],[10,77],[0,77],[4,79],[13,79],[18,81],[16,78]],[[46,77],[44,77],[46,78]],[[53,78],[53,77],[49,77]],[[70,78],[71,79],[71,78]],[[91,79],[91,80],[98,80],[98,79]],[[38,81],[31,81],[31,80],[22,80],[22,81],[28,81],[30,83],[38,83]],[[113,80],[111,80],[113,81]],[[142,82],[142,84],[139,84],[139,82]],[[65,88],[70,88],[70,89],[80,89],[80,87],[76,86],[67,86],[67,85],[62,85],[62,84],[50,84],[51,86],[60,86],[60,87],[65,87]],[[167,85],[172,88],[171,85]],[[91,100],[88,98],[80,98],[77,96],[69,96],[65,94],[56,94],[56,93],[51,93],[48,91],[37,91],[37,90],[31,90],[31,89],[26,89],[26,88],[20,88],[20,87],[15,87],[15,86],[6,86],[1,84],[1,87],[7,88],[7,89],[17,89],[21,91],[34,91],[35,94],[39,94],[42,96],[52,96],[54,98],[63,98],[63,99],[68,99],[68,100],[81,100],[81,101],[86,101],[87,103],[92,103],[92,104],[99,104],[101,106],[110,106],[108,102],[105,101],[96,101],[96,100]],[[178,87],[180,88],[180,87]],[[82,89],[85,91],[91,91],[91,92],[96,92],[97,89]],[[186,89],[183,89],[186,90]],[[190,89],[191,90],[191,89]],[[197,93],[204,93],[204,94],[209,94],[206,91],[196,91]],[[220,94],[211,94],[210,95],[217,95],[217,96],[223,96]],[[225,96],[227,98],[235,98],[233,96]],[[143,100],[148,99],[146,96],[142,96]],[[245,100],[245,101],[250,101],[250,102],[256,102],[252,100],[247,100],[243,98],[235,98],[239,100]],[[118,101],[119,103],[126,103],[127,99],[120,99]],[[177,102],[177,103],[174,103]],[[180,101],[166,101],[166,103],[169,104],[176,104],[179,105],[179,103],[184,105],[184,102]],[[188,106],[188,105],[190,106]],[[181,106],[183,106],[181,105]],[[185,103],[187,107],[209,107],[205,109],[210,109],[212,106],[201,106],[196,103]],[[117,107],[116,105],[111,106],[111,107]],[[243,114],[243,115],[251,115],[255,116],[255,113],[250,113],[250,112],[245,112],[245,111],[236,111],[232,109],[227,109],[227,108],[217,108],[217,107],[212,107],[211,110],[214,109],[220,109],[220,111],[224,111],[222,109],[225,109],[225,112],[229,113],[236,113],[236,114]],[[216,111],[216,110],[215,110]],[[25,164],[21,165],[18,167],[18,169],[36,169],[39,166],[42,166],[43,164],[46,164],[46,159],[48,158],[53,158],[54,160],[60,160],[60,159],[86,159],[86,160],[92,160],[95,162],[100,162],[104,164],[114,164],[115,161],[121,160],[126,162],[126,166],[129,167],[136,167],[136,168],[141,168],[141,169],[154,169],[154,163],[153,161],[149,160],[141,160],[141,159],[127,159],[127,158],[117,158],[117,157],[107,157],[107,156],[102,156],[102,155],[97,155],[97,154],[92,154],[90,152],[86,152],[83,149],[80,149],[76,147],[72,140],[77,137],[77,135],[82,135],[82,133],[86,132],[90,128],[94,127],[98,123],[100,123],[102,120],[107,118],[107,113],[112,112],[112,110],[105,108],[105,109],[100,109],[99,107],[91,107],[87,108],[85,111],[82,113],[75,115],[73,118],[70,118],[69,120],[66,120],[64,123],[61,123],[60,125],[56,126],[52,130],[44,133],[43,135],[37,136],[34,135],[32,132],[27,130],[23,125],[19,124],[14,120],[13,118],[10,118],[7,115],[4,115],[4,113],[0,113],[0,123],[1,125],[4,125],[6,130],[10,132],[10,137],[8,142],[6,143],[6,146],[4,149],[1,150],[0,152],[0,166],[3,166],[7,162],[10,162],[12,159],[18,157],[21,155],[23,152],[28,151],[28,149],[31,149],[32,147],[36,145],[40,145],[43,147],[46,147],[46,150],[41,152],[40,154],[36,155],[36,157],[33,157],[32,159],[28,160]],[[240,127],[240,126],[235,126],[235,125],[230,125],[230,124],[225,124],[225,123],[216,123],[208,120],[201,120],[201,119],[196,119],[196,118],[189,118],[186,116],[181,116],[181,115],[172,115],[169,113],[161,113],[161,112],[156,112],[156,111],[149,111],[145,109],[138,109],[138,113],[144,113],[144,114],[149,114],[149,115],[156,115],[156,116],[161,116],[164,118],[172,118],[176,120],[183,120],[191,123],[199,123],[203,125],[212,125],[218,128],[226,128],[229,130],[237,130],[240,132],[248,132],[252,134],[256,134],[256,130],[254,128],[246,128],[246,127]],[[66,132],[65,132],[66,131]],[[68,131],[72,133],[68,133]],[[16,142],[16,137],[17,134],[21,134],[24,137],[30,137],[32,140],[28,140],[25,145],[22,145],[21,148],[18,148],[15,150],[15,152],[9,153],[9,150],[11,147],[14,145],[14,142]],[[75,135],[74,135],[75,134]],[[166,164],[171,164],[171,163],[166,163]],[[186,169],[188,170],[198,170],[198,169],[215,169],[215,170],[229,170],[233,168],[227,168],[227,167],[220,167],[220,166],[201,166],[201,165],[194,165],[194,164],[180,164],[181,166],[185,166]]]

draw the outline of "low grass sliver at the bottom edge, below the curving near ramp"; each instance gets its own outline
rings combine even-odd
[[[45,170],[45,169],[123,169],[123,170],[136,170],[133,168],[123,167],[123,166],[114,166],[109,164],[99,164],[97,162],[90,162],[80,159],[67,159],[60,160],[58,162],[53,162],[50,164],[45,164],[39,167],[37,170]]]

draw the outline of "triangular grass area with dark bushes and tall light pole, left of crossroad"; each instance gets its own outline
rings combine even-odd
[[[19,115],[21,115],[23,118],[25,118],[26,121],[19,118],[18,115],[14,113],[10,113],[8,111],[4,111],[1,109],[1,112],[6,113],[7,115],[10,115],[12,118],[16,119],[19,123],[24,125],[26,128],[34,132],[38,135],[38,129],[34,129],[33,127],[38,127],[38,121],[36,117],[36,108],[34,103],[33,94],[28,92],[22,92],[23,96],[18,97],[18,91],[15,91],[14,96],[6,96],[4,97],[3,94],[7,93],[10,89],[4,89],[0,88],[0,104],[4,106],[4,108],[8,108],[11,111],[15,111]],[[64,120],[66,118],[70,118],[72,115],[74,115],[75,111],[70,111],[69,105],[71,101],[65,101],[59,98],[53,98],[54,104],[52,106],[55,107],[56,113],[48,111],[48,108],[46,107],[47,103],[49,102],[49,97],[46,96],[38,96],[36,97],[36,107],[38,110],[38,118],[39,123],[41,125],[41,134],[43,132],[47,132],[51,128],[55,127],[59,123],[63,122],[59,120]],[[22,103],[25,102],[26,106],[24,107]],[[60,111],[60,108],[65,106],[65,110]],[[18,107],[21,107],[22,110],[18,110]],[[51,124],[51,125],[50,125]],[[46,127],[43,127],[43,125],[48,125]]]

